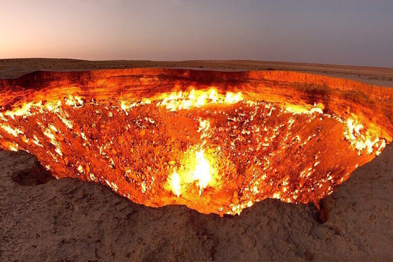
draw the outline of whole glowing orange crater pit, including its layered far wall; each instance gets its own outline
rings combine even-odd
[[[294,72],[37,72],[0,81],[0,148],[146,206],[318,201],[392,140],[393,92]]]

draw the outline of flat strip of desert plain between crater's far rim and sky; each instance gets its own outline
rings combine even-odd
[[[0,79],[17,78],[37,70],[82,71],[124,68],[182,68],[218,71],[283,70],[333,76],[384,87],[393,87],[393,68],[358,67],[354,65],[275,62],[254,60],[189,60],[149,61],[17,58],[0,59]]]

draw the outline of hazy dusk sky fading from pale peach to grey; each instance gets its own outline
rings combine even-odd
[[[393,1],[0,0],[0,58],[393,67]]]

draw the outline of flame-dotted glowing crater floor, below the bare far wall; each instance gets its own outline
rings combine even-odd
[[[222,215],[266,198],[317,202],[391,141],[356,114],[268,102],[246,89],[139,98],[65,90],[0,106],[0,147],[37,155],[57,178],[103,183],[153,207]]]

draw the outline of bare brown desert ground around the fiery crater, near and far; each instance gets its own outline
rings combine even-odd
[[[291,70],[393,87],[393,69],[259,61],[3,59],[0,77],[129,67]],[[392,157],[390,144],[320,210],[269,199],[221,218],[185,206],[149,208],[101,184],[51,179],[35,156],[0,151],[0,260],[390,260]]]

